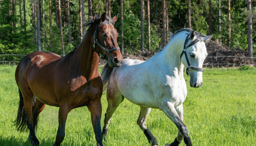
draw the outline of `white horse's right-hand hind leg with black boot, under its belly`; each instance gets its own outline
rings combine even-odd
[[[141,106],[140,107],[140,115],[137,120],[137,124],[140,126],[140,129],[143,130],[145,136],[148,139],[148,142],[152,146],[156,146],[156,145],[158,145],[157,140],[146,126],[147,117],[148,117],[148,114],[150,113],[150,111],[151,111],[151,108]]]

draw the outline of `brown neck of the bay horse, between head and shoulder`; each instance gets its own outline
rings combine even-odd
[[[79,65],[78,68],[86,78],[93,78],[95,75],[99,75],[99,56],[93,49],[94,31],[95,26],[83,38],[74,55],[77,65]]]

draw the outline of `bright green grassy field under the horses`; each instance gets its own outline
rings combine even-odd
[[[17,132],[12,126],[18,109],[16,66],[0,66],[0,146],[30,146],[28,132]],[[205,69],[203,85],[191,88],[185,77],[188,95],[183,104],[184,123],[194,146],[256,145],[256,70]],[[107,108],[102,96],[103,127]],[[126,107],[125,107],[126,106]],[[149,146],[136,124],[139,106],[124,100],[114,113],[104,146]],[[53,145],[58,128],[58,108],[47,106],[39,115],[37,138],[41,146]],[[178,130],[159,109],[152,109],[147,127],[159,146],[171,143]],[[66,123],[62,146],[95,146],[96,140],[87,107],[72,110]],[[180,146],[185,146],[184,142]]]

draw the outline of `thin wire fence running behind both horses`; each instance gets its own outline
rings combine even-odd
[[[20,54],[0,54],[0,56],[26,56],[26,55],[20,55]],[[60,55],[60,56],[63,56],[63,55]],[[206,58],[223,58],[223,57],[228,57],[228,58],[252,58],[252,59],[255,59],[256,57],[242,57],[242,56],[207,56]],[[139,58],[143,58],[143,59],[149,59],[151,57],[136,57],[136,56],[124,56],[124,58],[135,58],[135,59],[139,59]],[[0,61],[1,63],[3,64],[6,64],[6,63],[19,63],[19,61]],[[105,63],[99,63],[99,65],[105,65]],[[247,65],[247,64],[232,64],[232,63],[227,63],[227,64],[222,64],[222,63],[218,63],[218,64],[209,64],[209,63],[206,63],[206,64],[203,64],[203,65],[238,65],[238,66],[244,66],[244,65]],[[250,65],[250,66],[256,66],[256,65]]]

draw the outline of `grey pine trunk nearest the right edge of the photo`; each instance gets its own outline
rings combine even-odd
[[[247,11],[250,11],[252,8],[251,0],[247,0]],[[248,19],[248,57],[253,57],[252,52],[252,15],[249,15]],[[253,58],[250,58],[253,61]]]

